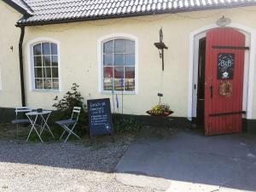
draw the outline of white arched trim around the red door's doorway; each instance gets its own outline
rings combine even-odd
[[[195,96],[196,91],[193,89],[195,84],[195,73],[198,61],[198,47],[195,47],[196,41],[199,40],[201,35],[213,28],[217,28],[216,24],[210,26],[204,26],[200,29],[191,32],[189,35],[189,94],[188,94],[188,119],[195,117]],[[254,61],[256,50],[256,31],[253,28],[243,26],[237,23],[231,23],[229,27],[236,28],[237,30],[244,32],[247,38],[247,46],[250,47],[249,54],[245,55],[245,72],[244,72],[244,91],[243,91],[243,108],[247,111],[246,118],[252,119],[253,117],[253,75],[254,75]],[[197,59],[196,59],[197,58]],[[196,80],[197,81],[197,80]],[[193,100],[194,98],[194,100]]]

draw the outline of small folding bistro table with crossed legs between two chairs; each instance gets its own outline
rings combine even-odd
[[[47,124],[50,113],[51,113],[51,111],[49,111],[49,110],[43,110],[42,112],[32,111],[32,112],[26,113],[26,117],[29,119],[29,121],[32,125],[32,128],[28,134],[28,137],[26,138],[26,142],[28,141],[32,131],[34,130],[34,131],[36,131],[41,142],[44,143],[43,139],[41,138],[41,135],[45,128],[47,128],[49,130],[50,134],[52,135],[52,137],[55,138],[55,136],[53,135],[52,131],[49,128],[49,125]],[[34,118],[32,118],[32,117],[34,117]],[[37,124],[37,121],[39,119],[38,117],[42,119],[41,125]],[[39,133],[37,131],[36,126],[38,126],[40,128]]]

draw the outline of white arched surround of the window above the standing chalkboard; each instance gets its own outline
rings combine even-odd
[[[98,57],[98,91],[102,94],[112,94],[112,90],[103,89],[103,44],[113,39],[127,39],[135,42],[135,90],[121,91],[114,90],[115,94],[138,94],[138,38],[128,33],[112,33],[98,39],[97,57]]]

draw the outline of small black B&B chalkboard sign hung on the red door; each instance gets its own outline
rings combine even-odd
[[[235,55],[231,53],[218,54],[218,79],[233,79]]]

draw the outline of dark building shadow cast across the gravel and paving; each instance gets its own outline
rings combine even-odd
[[[158,183],[156,178],[171,183],[256,191],[256,136],[247,133],[204,137],[199,130],[147,127],[133,143],[131,136],[116,136],[114,143],[110,137],[100,137],[91,144],[84,137],[82,141],[71,139],[68,143],[49,139],[42,144],[37,140],[26,143],[25,139],[17,142],[15,129],[10,131],[6,126],[0,129],[3,166],[15,163],[113,172],[117,165],[117,174],[131,173],[126,177],[131,185],[144,182],[141,176],[148,176],[153,178],[151,186],[159,185],[160,189],[170,186]],[[125,183],[124,177],[119,181]]]

